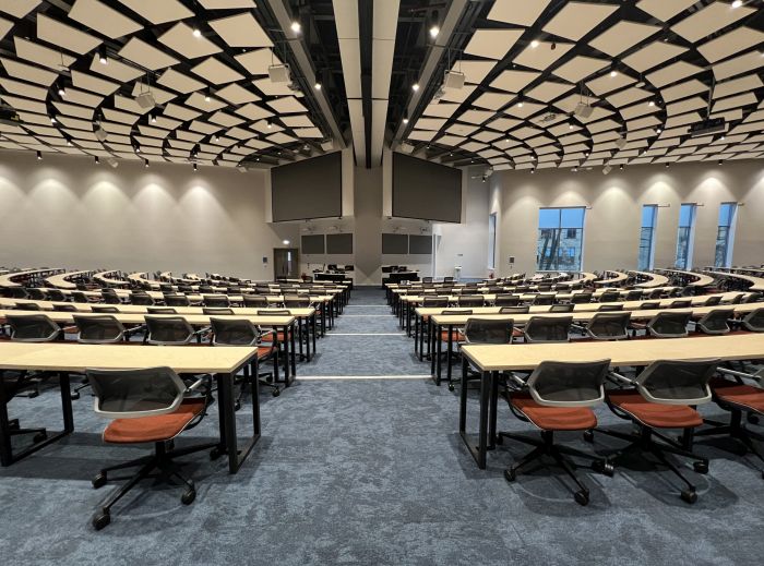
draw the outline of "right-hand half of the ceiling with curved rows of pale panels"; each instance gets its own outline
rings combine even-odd
[[[393,124],[407,150],[494,169],[764,156],[761,1],[462,3],[449,60]],[[438,93],[449,69],[466,84]],[[724,131],[690,136],[708,115]]]

